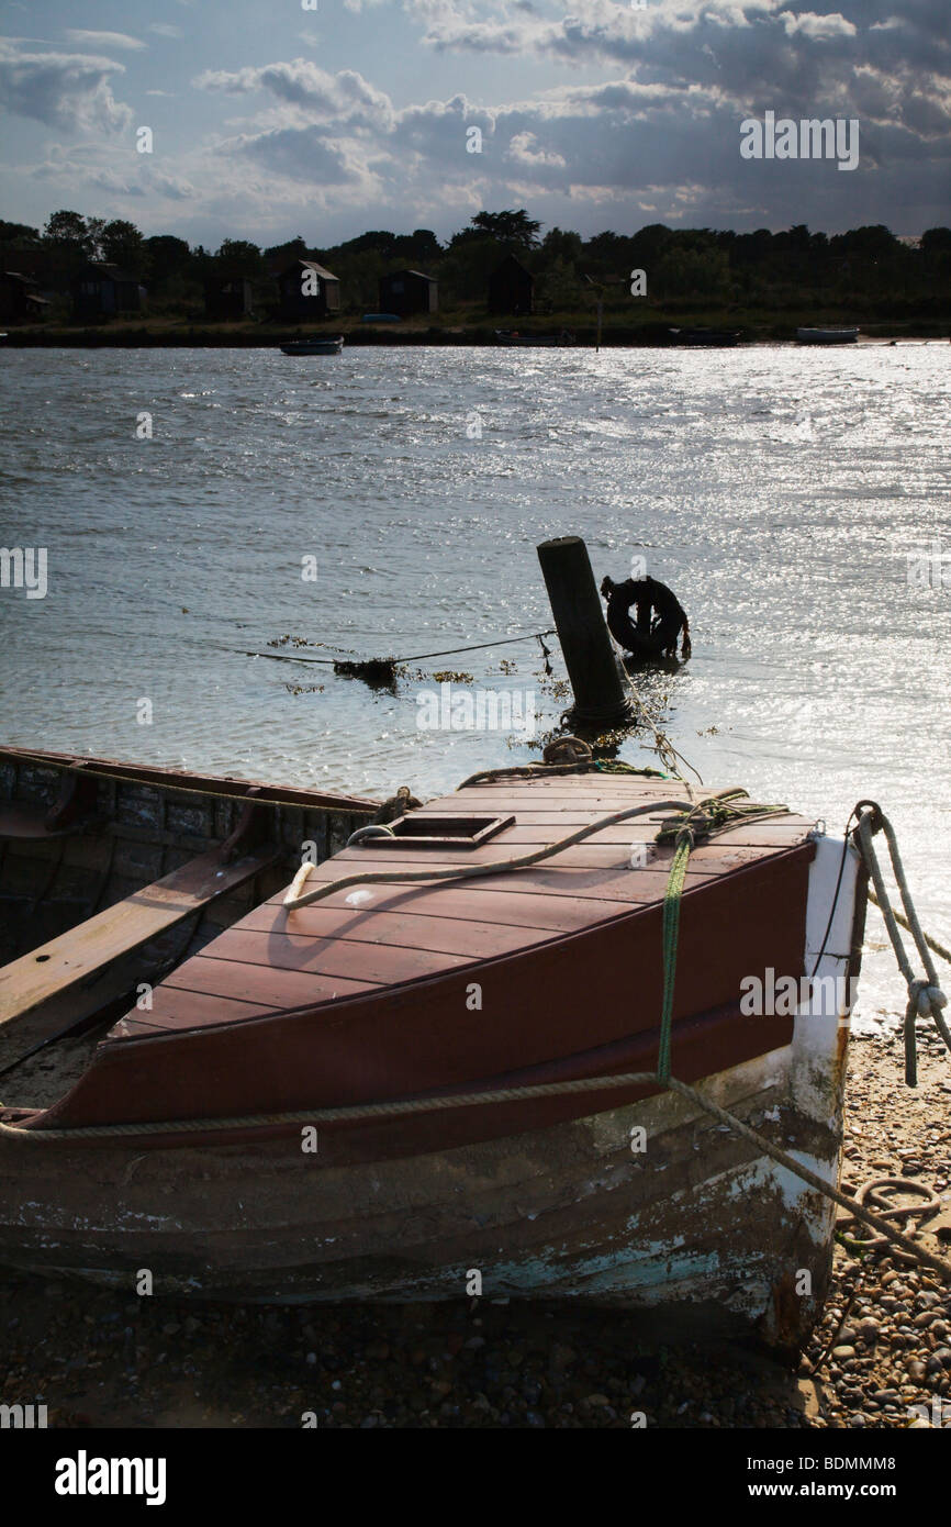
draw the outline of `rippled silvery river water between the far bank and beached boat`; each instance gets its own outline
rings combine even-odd
[[[693,660],[641,689],[704,779],[830,829],[879,799],[925,924],[951,933],[951,586],[907,583],[910,551],[951,551],[946,344],[0,359],[2,544],[49,548],[46,599],[0,589],[5,741],[434,794],[537,751],[418,730],[426,680],[374,693],[244,652],[537,631],[536,544],[580,533],[598,582],[641,553],[685,605]],[[411,667],[531,689],[539,731],[565,705],[534,643]],[[866,1009],[898,991],[873,957]]]

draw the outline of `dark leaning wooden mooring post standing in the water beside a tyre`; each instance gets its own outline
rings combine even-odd
[[[601,727],[630,721],[630,698],[601,614],[588,547],[580,536],[559,536],[543,541],[537,551],[574,693],[572,722]]]

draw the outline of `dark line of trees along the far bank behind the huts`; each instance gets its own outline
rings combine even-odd
[[[948,228],[908,241],[884,224],[827,235],[803,223],[750,234],[653,223],[637,234],[583,238],[562,228],[542,235],[524,208],[476,212],[446,243],[427,228],[371,229],[331,246],[304,235],[270,247],[226,238],[214,252],[172,234],[147,237],[124,218],[60,211],[43,231],[0,220],[0,253],[3,269],[34,273],[41,286],[63,292],[87,261],[116,264],[148,287],[154,313],[198,312],[209,279],[241,276],[252,282],[261,316],[273,302],[275,273],[296,258],[333,270],[351,313],[376,307],[380,276],[403,266],[438,278],[443,312],[482,307],[488,273],[508,253],[534,276],[542,313],[589,310],[595,292],[609,312],[630,312],[630,272],[643,269],[650,302],[774,312],[852,302],[866,315],[943,316],[951,278]]]

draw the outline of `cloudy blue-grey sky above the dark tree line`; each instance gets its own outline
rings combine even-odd
[[[32,226],[951,224],[951,0],[2,0],[0,34],[0,215]],[[768,111],[858,122],[856,168],[743,157]]]

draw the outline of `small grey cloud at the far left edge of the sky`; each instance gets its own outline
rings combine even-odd
[[[131,125],[111,81],[124,66],[92,53],[29,53],[0,40],[0,107],[47,127],[119,133]]]

